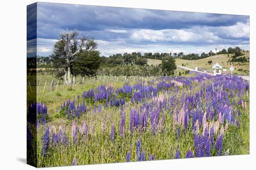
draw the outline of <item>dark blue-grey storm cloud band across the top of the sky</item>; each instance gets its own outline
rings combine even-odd
[[[212,13],[38,3],[38,37],[58,38],[60,30],[184,29],[195,25],[230,26],[248,17]]]

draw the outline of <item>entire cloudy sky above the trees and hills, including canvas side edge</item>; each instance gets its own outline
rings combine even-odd
[[[33,16],[28,8],[28,28]],[[94,38],[101,55],[249,49],[249,16],[105,6],[37,3],[37,34],[27,35],[28,56],[48,56],[61,32]],[[37,38],[37,39],[35,39]]]

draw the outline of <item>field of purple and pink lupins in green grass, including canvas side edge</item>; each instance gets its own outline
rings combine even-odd
[[[53,109],[28,108],[38,167],[249,154],[249,82],[237,76],[110,82]]]

